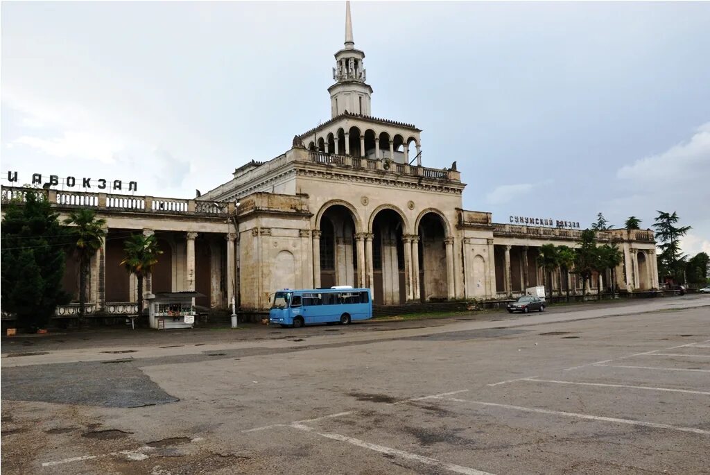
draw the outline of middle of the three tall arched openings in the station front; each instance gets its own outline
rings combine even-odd
[[[402,217],[393,209],[382,209],[372,222],[373,301],[380,305],[407,299],[403,229]]]

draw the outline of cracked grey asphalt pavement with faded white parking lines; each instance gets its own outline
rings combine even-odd
[[[6,474],[702,474],[710,296],[2,341]],[[26,343],[29,342],[29,343]]]

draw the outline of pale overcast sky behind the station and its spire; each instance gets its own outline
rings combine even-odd
[[[656,210],[710,253],[710,3],[360,2],[373,116],[454,160],[464,208],[616,226]],[[3,183],[195,197],[330,118],[344,2],[3,2]]]

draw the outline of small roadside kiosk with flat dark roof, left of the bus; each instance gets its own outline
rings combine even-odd
[[[151,328],[163,330],[195,326],[195,297],[199,292],[160,292],[148,296]]]

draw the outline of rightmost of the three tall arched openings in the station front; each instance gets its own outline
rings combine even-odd
[[[430,212],[419,222],[419,285],[422,301],[448,297],[446,230],[442,217]]]

